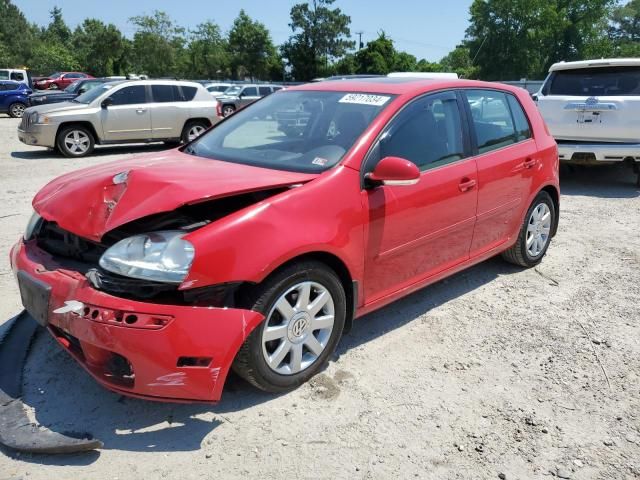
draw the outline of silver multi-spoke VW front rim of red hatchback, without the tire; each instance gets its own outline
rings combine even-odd
[[[335,318],[329,290],[301,282],[275,302],[262,331],[262,353],[271,370],[294,375],[315,363],[326,348]]]

